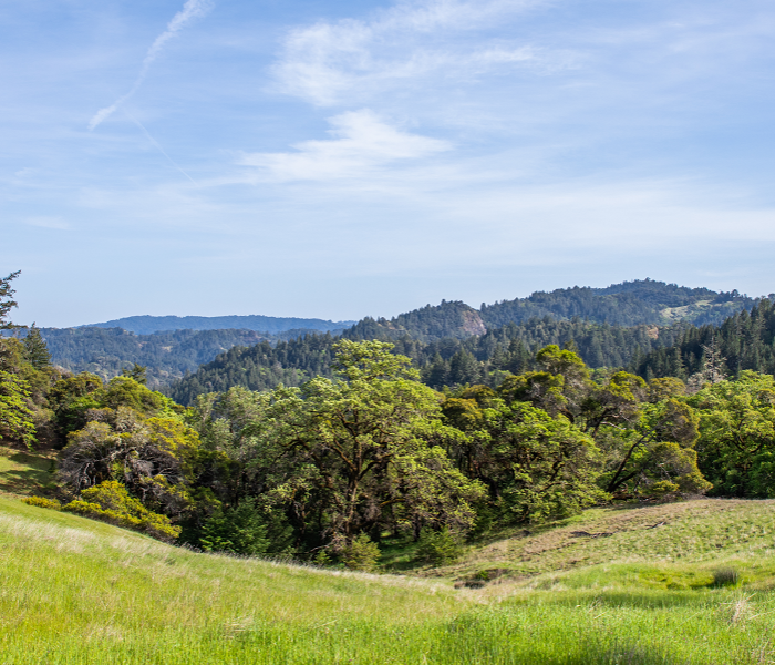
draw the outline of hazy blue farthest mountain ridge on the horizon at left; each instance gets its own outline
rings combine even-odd
[[[287,330],[320,330],[338,332],[355,321],[329,321],[316,318],[248,316],[127,316],[101,324],[87,324],[79,328],[123,328],[137,335],[169,332],[173,330],[255,330],[277,335]]]

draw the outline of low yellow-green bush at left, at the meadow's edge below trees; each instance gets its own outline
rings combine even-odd
[[[84,490],[80,500],[71,501],[62,510],[116,526],[143,531],[167,542],[180,535],[180,528],[173,526],[169,518],[151,512],[115,480],[107,480]]]

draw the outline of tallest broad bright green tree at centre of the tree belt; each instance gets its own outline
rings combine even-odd
[[[254,420],[239,440],[264,500],[287,511],[300,542],[338,553],[382,529],[471,528],[482,489],[442,447],[458,433],[442,423],[438,393],[391,344],[334,348],[334,380],[252,400]]]

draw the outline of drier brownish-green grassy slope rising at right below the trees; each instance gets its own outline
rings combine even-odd
[[[437,572],[471,579],[497,571],[518,580],[616,562],[688,565],[710,579],[720,560],[731,559],[748,571],[750,581],[775,574],[775,501],[706,499],[589,510],[472,550],[459,564]]]

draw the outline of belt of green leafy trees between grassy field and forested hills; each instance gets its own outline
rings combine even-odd
[[[591,370],[550,344],[496,383],[437,390],[397,344],[324,338],[309,341],[326,376],[183,407],[140,366],[107,382],[54,368],[33,329],[0,341],[0,436],[60,451],[56,495],[32,502],[207,551],[352,567],[389,540],[438,563],[487,531],[613,500],[775,495],[775,379],[725,377],[715,351],[692,382]]]

